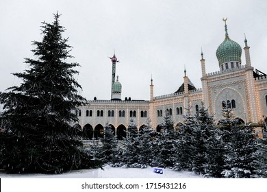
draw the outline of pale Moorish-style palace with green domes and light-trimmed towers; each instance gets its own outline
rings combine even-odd
[[[229,38],[225,21],[225,40],[217,50],[216,56],[220,71],[206,73],[205,59],[201,51],[200,68],[202,88],[195,88],[186,76],[175,93],[154,97],[153,80],[150,84],[150,100],[121,99],[122,86],[116,77],[115,54],[112,61],[112,95],[110,100],[89,101],[77,110],[79,128],[86,132],[88,139],[103,136],[103,127],[109,123],[118,139],[126,136],[130,119],[134,119],[138,130],[151,120],[155,130],[160,131],[160,123],[168,112],[175,125],[183,123],[183,114],[188,104],[192,112],[199,110],[201,101],[214,114],[218,122],[222,118],[222,108],[228,105],[240,121],[257,123],[267,115],[267,75],[251,66],[247,40],[244,40],[245,63],[241,62],[242,48]],[[116,81],[115,81],[116,77]]]

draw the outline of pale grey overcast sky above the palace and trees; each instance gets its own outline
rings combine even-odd
[[[71,62],[81,67],[77,81],[86,99],[110,99],[112,62],[120,60],[116,75],[123,85],[122,99],[149,99],[153,75],[154,96],[177,91],[183,70],[201,88],[201,47],[206,71],[219,71],[216,49],[225,38],[251,47],[251,63],[267,73],[267,1],[175,0],[0,0],[0,91],[21,80],[11,73],[27,69],[34,58],[32,41],[42,40],[42,21],[53,22],[59,12],[64,38],[73,46]],[[245,64],[242,49],[242,64]]]

